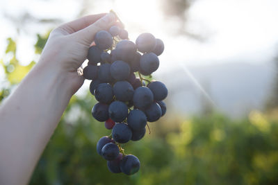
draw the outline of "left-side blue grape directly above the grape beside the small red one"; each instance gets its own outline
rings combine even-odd
[[[113,96],[113,88],[108,83],[101,83],[95,89],[95,98],[100,103],[111,103]]]

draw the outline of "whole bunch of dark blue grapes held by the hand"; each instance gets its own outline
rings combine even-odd
[[[92,107],[92,116],[112,130],[97,142],[97,153],[107,160],[112,173],[138,172],[139,159],[126,155],[121,144],[142,139],[147,121],[157,121],[166,112],[167,88],[163,82],[143,77],[158,69],[163,50],[162,40],[151,33],[142,33],[133,43],[117,25],[100,30],[90,46],[83,76],[92,80],[90,92],[99,101]]]

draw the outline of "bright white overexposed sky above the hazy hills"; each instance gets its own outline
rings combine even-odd
[[[172,30],[177,28],[176,21],[165,21],[159,9],[161,1],[95,2],[91,13],[108,12],[112,8],[126,24],[133,41],[142,32],[150,32],[163,39],[165,53],[161,55],[161,61],[164,61],[161,67],[165,69],[177,61],[196,65],[235,60],[265,62],[275,56],[275,44],[278,42],[277,0],[197,0],[190,8],[188,28],[193,33],[207,35],[206,42],[172,35]],[[78,16],[81,8],[81,1],[77,0],[68,0],[67,6],[63,0],[1,0],[0,12],[15,12],[11,14],[15,19],[21,12],[28,11],[34,17],[58,17],[70,21]],[[0,15],[0,24],[0,58],[3,58],[6,38],[14,37],[19,44],[17,56],[23,64],[38,59],[33,55],[34,35],[46,32],[49,25],[27,24],[26,32],[16,36],[15,26],[3,14]],[[20,21],[17,26],[20,27]]]

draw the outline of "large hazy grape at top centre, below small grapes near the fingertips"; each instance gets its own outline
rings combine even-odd
[[[133,42],[124,39],[117,43],[115,50],[118,60],[123,60],[124,62],[129,63],[133,60],[136,53],[136,45]]]

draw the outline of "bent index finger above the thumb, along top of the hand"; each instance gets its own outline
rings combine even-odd
[[[70,21],[66,24],[59,26],[58,29],[63,30],[64,32],[66,32],[66,34],[72,34],[76,31],[82,30],[87,26],[90,26],[91,24],[95,23],[95,21],[97,21],[101,17],[104,17],[105,15],[105,13],[102,13],[98,15],[88,15],[85,17],[81,17],[79,19]]]

